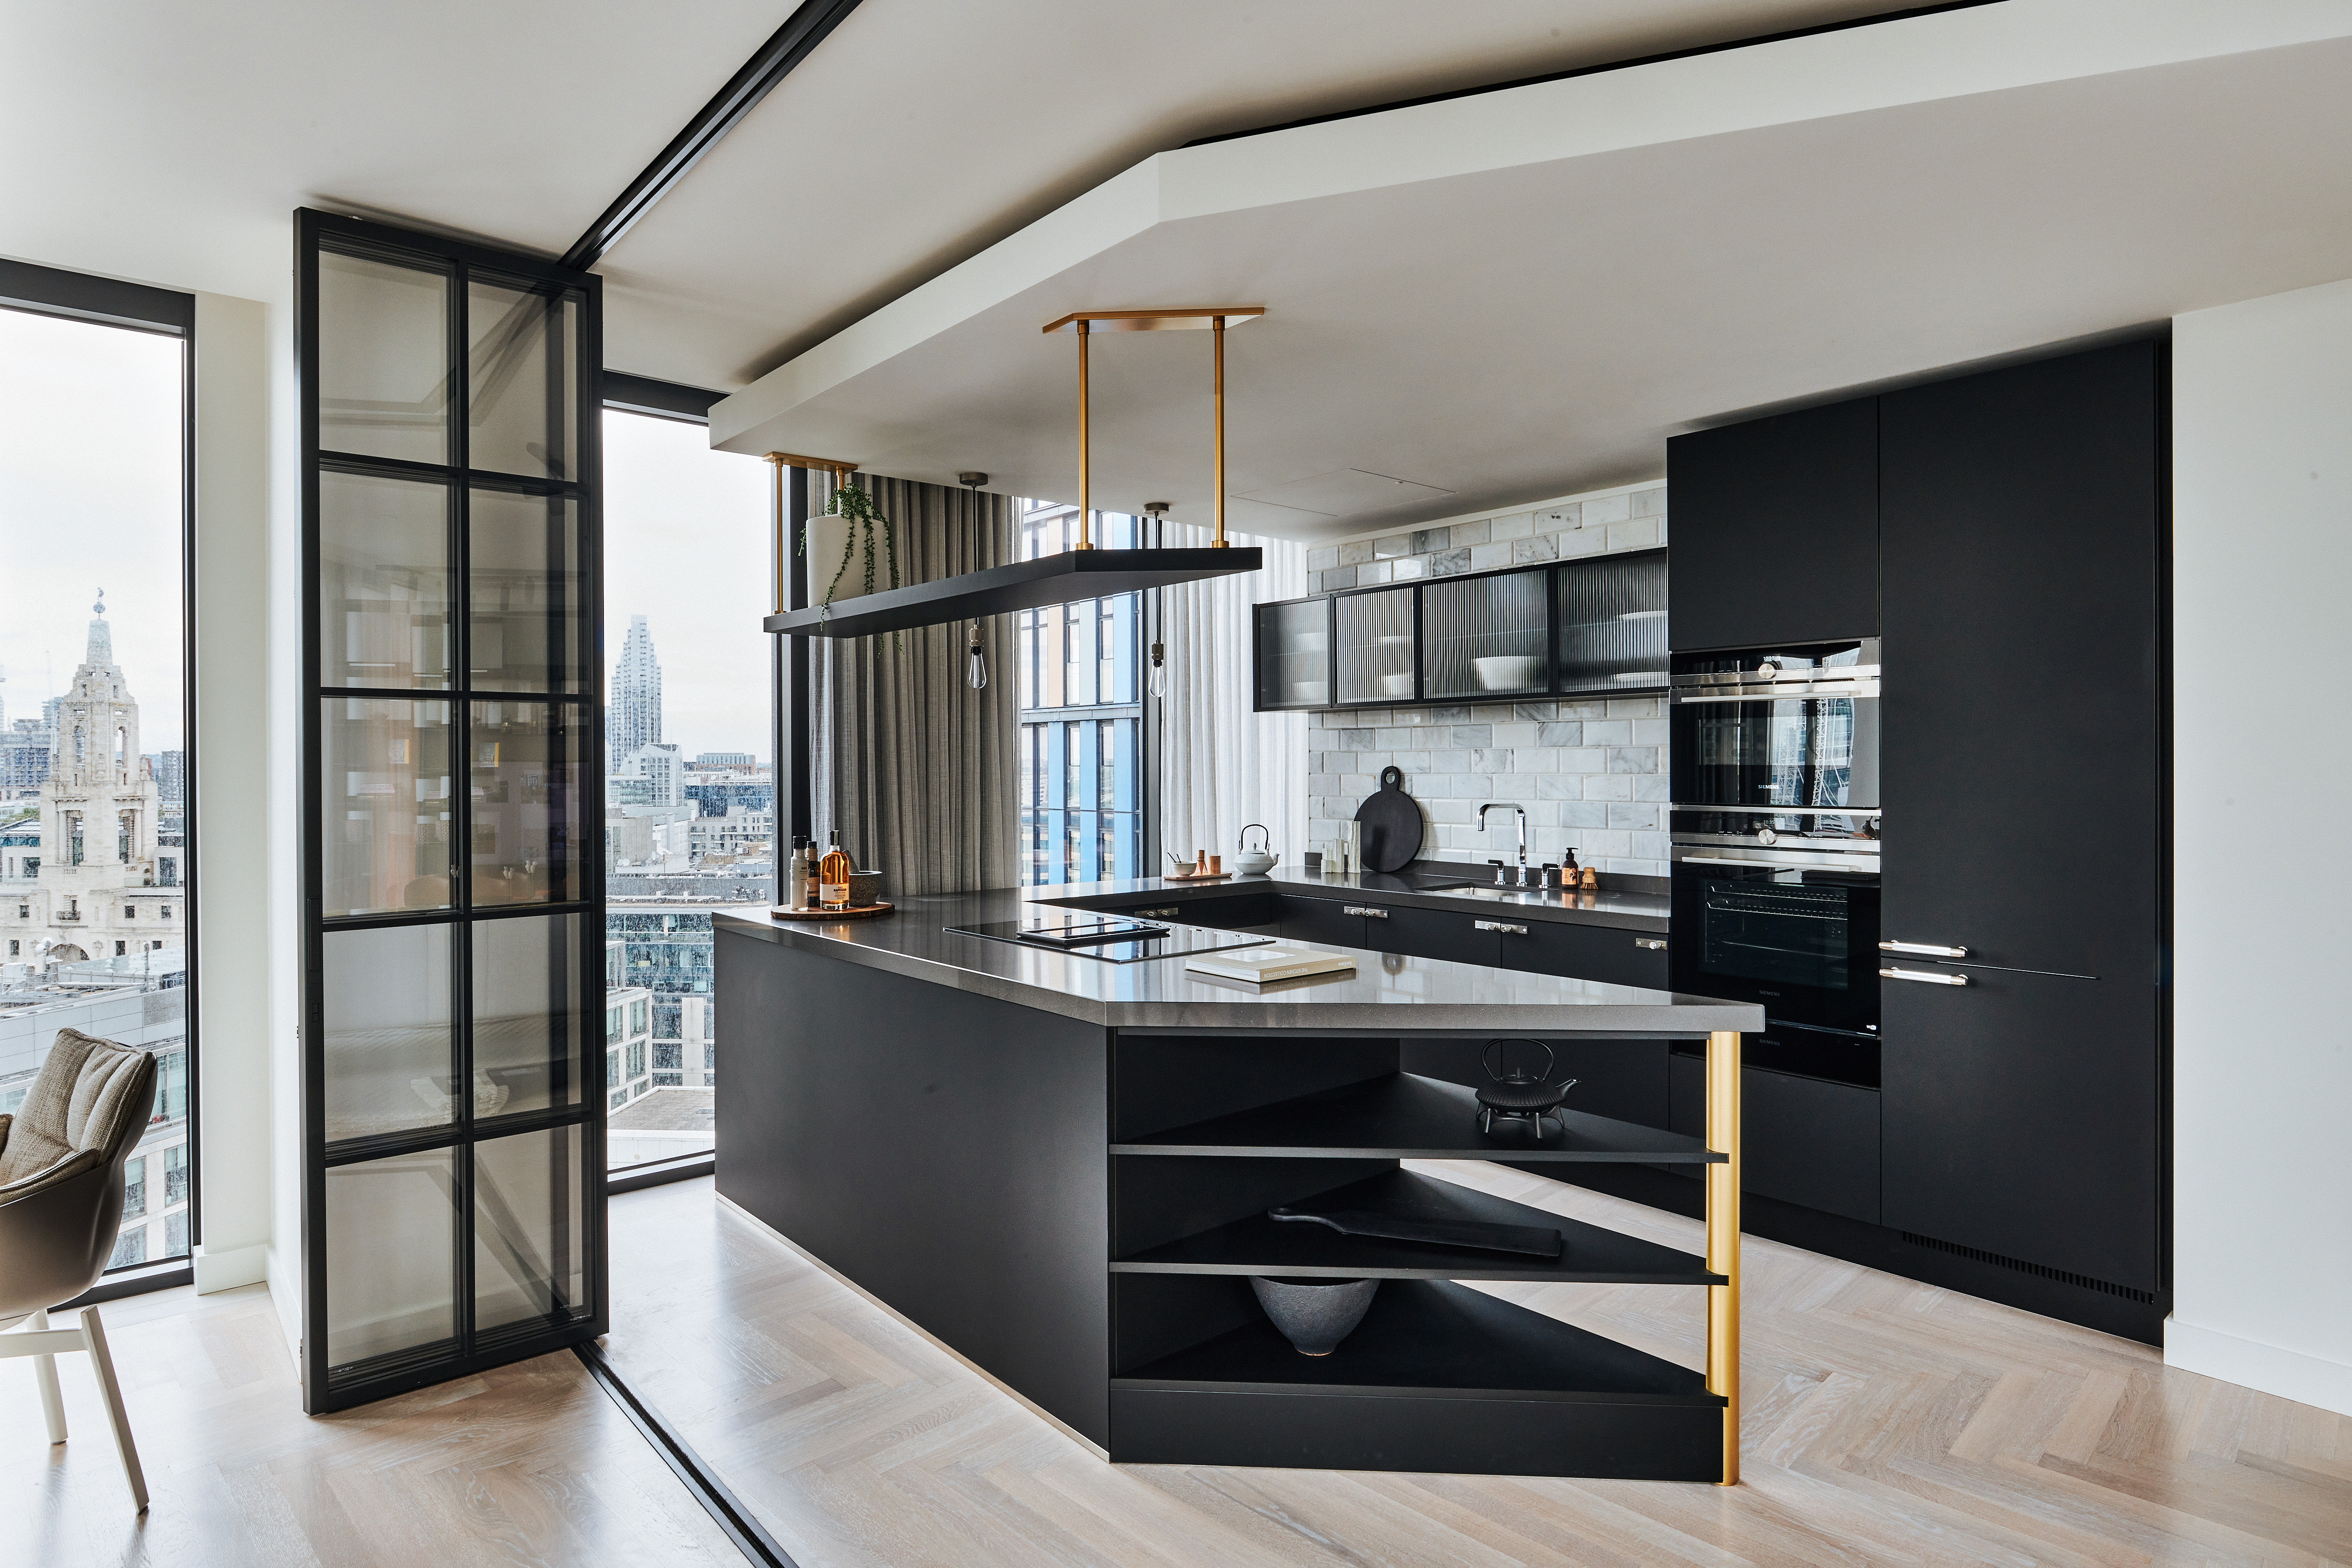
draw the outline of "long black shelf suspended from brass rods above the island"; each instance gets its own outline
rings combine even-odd
[[[870,637],[903,632],[915,625],[978,621],[1011,609],[1098,599],[1117,592],[1197,583],[1211,576],[1256,571],[1263,550],[1065,550],[1011,562],[985,571],[910,583],[854,599],[835,599],[830,609],[795,609],[769,616],[760,630],[788,637]]]

